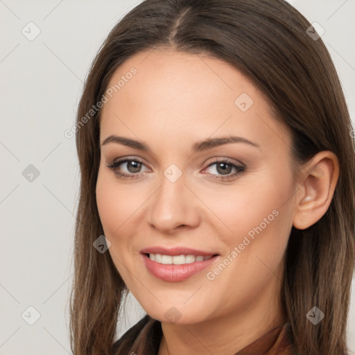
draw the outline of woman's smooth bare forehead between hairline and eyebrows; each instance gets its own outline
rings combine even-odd
[[[174,132],[166,138],[171,144],[181,144],[182,136],[198,140],[214,132],[253,131],[261,140],[286,135],[272,118],[266,96],[231,64],[207,55],[139,52],[116,69],[110,88],[112,97],[101,112],[101,141],[122,132],[130,137]]]

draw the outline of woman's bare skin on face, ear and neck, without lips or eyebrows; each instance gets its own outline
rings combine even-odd
[[[327,211],[338,160],[318,153],[295,175],[288,128],[272,116],[266,96],[222,60],[144,51],[123,62],[109,86],[131,67],[135,76],[103,107],[100,141],[119,135],[144,141],[151,152],[101,146],[96,198],[110,255],[143,309],[162,322],[159,355],[235,354],[287,320],[279,293],[291,227],[309,227]],[[242,93],[254,101],[245,112],[234,104]],[[228,135],[258,147],[233,143],[191,151],[196,141]],[[124,157],[143,162],[141,170],[125,163],[116,170],[138,178],[119,178],[107,167]],[[244,164],[245,171],[216,180],[224,176],[218,164],[209,166],[216,158]],[[176,182],[164,176],[171,164],[182,172]],[[228,168],[225,174],[236,172]],[[238,257],[208,279],[207,272],[275,210],[278,215]],[[139,251],[153,245],[183,245],[219,257],[182,282],[164,282],[141,261]],[[164,315],[171,307],[180,313],[177,322]]]

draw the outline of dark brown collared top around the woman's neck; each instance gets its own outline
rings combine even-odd
[[[157,355],[162,326],[159,320],[146,315],[137,324],[128,329],[114,343],[112,355]],[[234,355],[292,355],[293,336],[291,324],[286,322],[261,336]]]

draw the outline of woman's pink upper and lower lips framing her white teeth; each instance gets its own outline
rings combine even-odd
[[[195,275],[197,272],[200,272],[214,263],[218,259],[216,252],[205,252],[203,250],[196,250],[184,247],[175,247],[171,249],[166,249],[162,247],[152,247],[141,250],[141,257],[146,265],[148,271],[157,277],[166,282],[179,282],[192,275]],[[204,261],[194,261],[193,263],[186,263],[183,265],[174,265],[174,264],[162,264],[157,261],[150,260],[146,254],[164,254],[164,255],[201,255],[202,257],[212,256],[211,259]]]

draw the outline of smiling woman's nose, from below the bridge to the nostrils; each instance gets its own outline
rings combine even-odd
[[[162,185],[150,203],[150,225],[162,234],[173,234],[178,227],[192,228],[200,223],[199,200],[187,186],[184,174],[175,182],[163,175]]]

